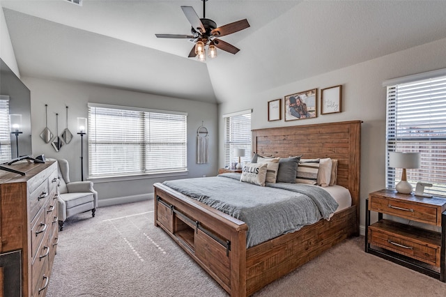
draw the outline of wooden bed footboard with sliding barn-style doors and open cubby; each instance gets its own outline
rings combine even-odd
[[[155,183],[161,227],[231,296],[246,296],[245,222]]]

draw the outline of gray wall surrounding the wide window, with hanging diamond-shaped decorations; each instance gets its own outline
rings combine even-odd
[[[192,178],[217,174],[217,105],[178,98],[149,95],[133,91],[111,89],[103,86],[61,82],[49,79],[36,79],[22,76],[22,81],[31,90],[31,128],[33,154],[44,154],[47,158],[64,158],[70,163],[72,181],[81,179],[81,139],[77,132],[77,117],[88,118],[88,102],[142,107],[151,109],[187,112],[187,168],[183,175],[158,174],[132,178],[95,178],[95,190],[99,195],[99,206],[137,201],[151,197],[153,183],[172,178]],[[56,113],[59,113],[59,135],[66,128],[66,106],[68,106],[68,129],[74,135],[69,144],[64,144],[59,152],[40,139],[45,128],[45,104],[48,105],[48,128],[56,134]],[[197,129],[203,121],[209,131],[210,162],[197,164]],[[88,130],[88,128],[87,128]],[[88,176],[88,149],[84,137],[84,179]]]

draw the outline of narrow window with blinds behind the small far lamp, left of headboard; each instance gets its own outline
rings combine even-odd
[[[225,114],[224,117],[224,165],[232,167],[238,162],[235,148],[245,148],[240,161],[251,162],[251,110]]]

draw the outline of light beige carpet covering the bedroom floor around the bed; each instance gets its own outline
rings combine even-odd
[[[153,200],[68,218],[47,291],[70,296],[228,296],[153,224]],[[446,284],[364,252],[351,238],[254,294],[446,296]]]

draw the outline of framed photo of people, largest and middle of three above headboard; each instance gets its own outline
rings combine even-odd
[[[318,89],[285,96],[285,121],[316,118]]]

